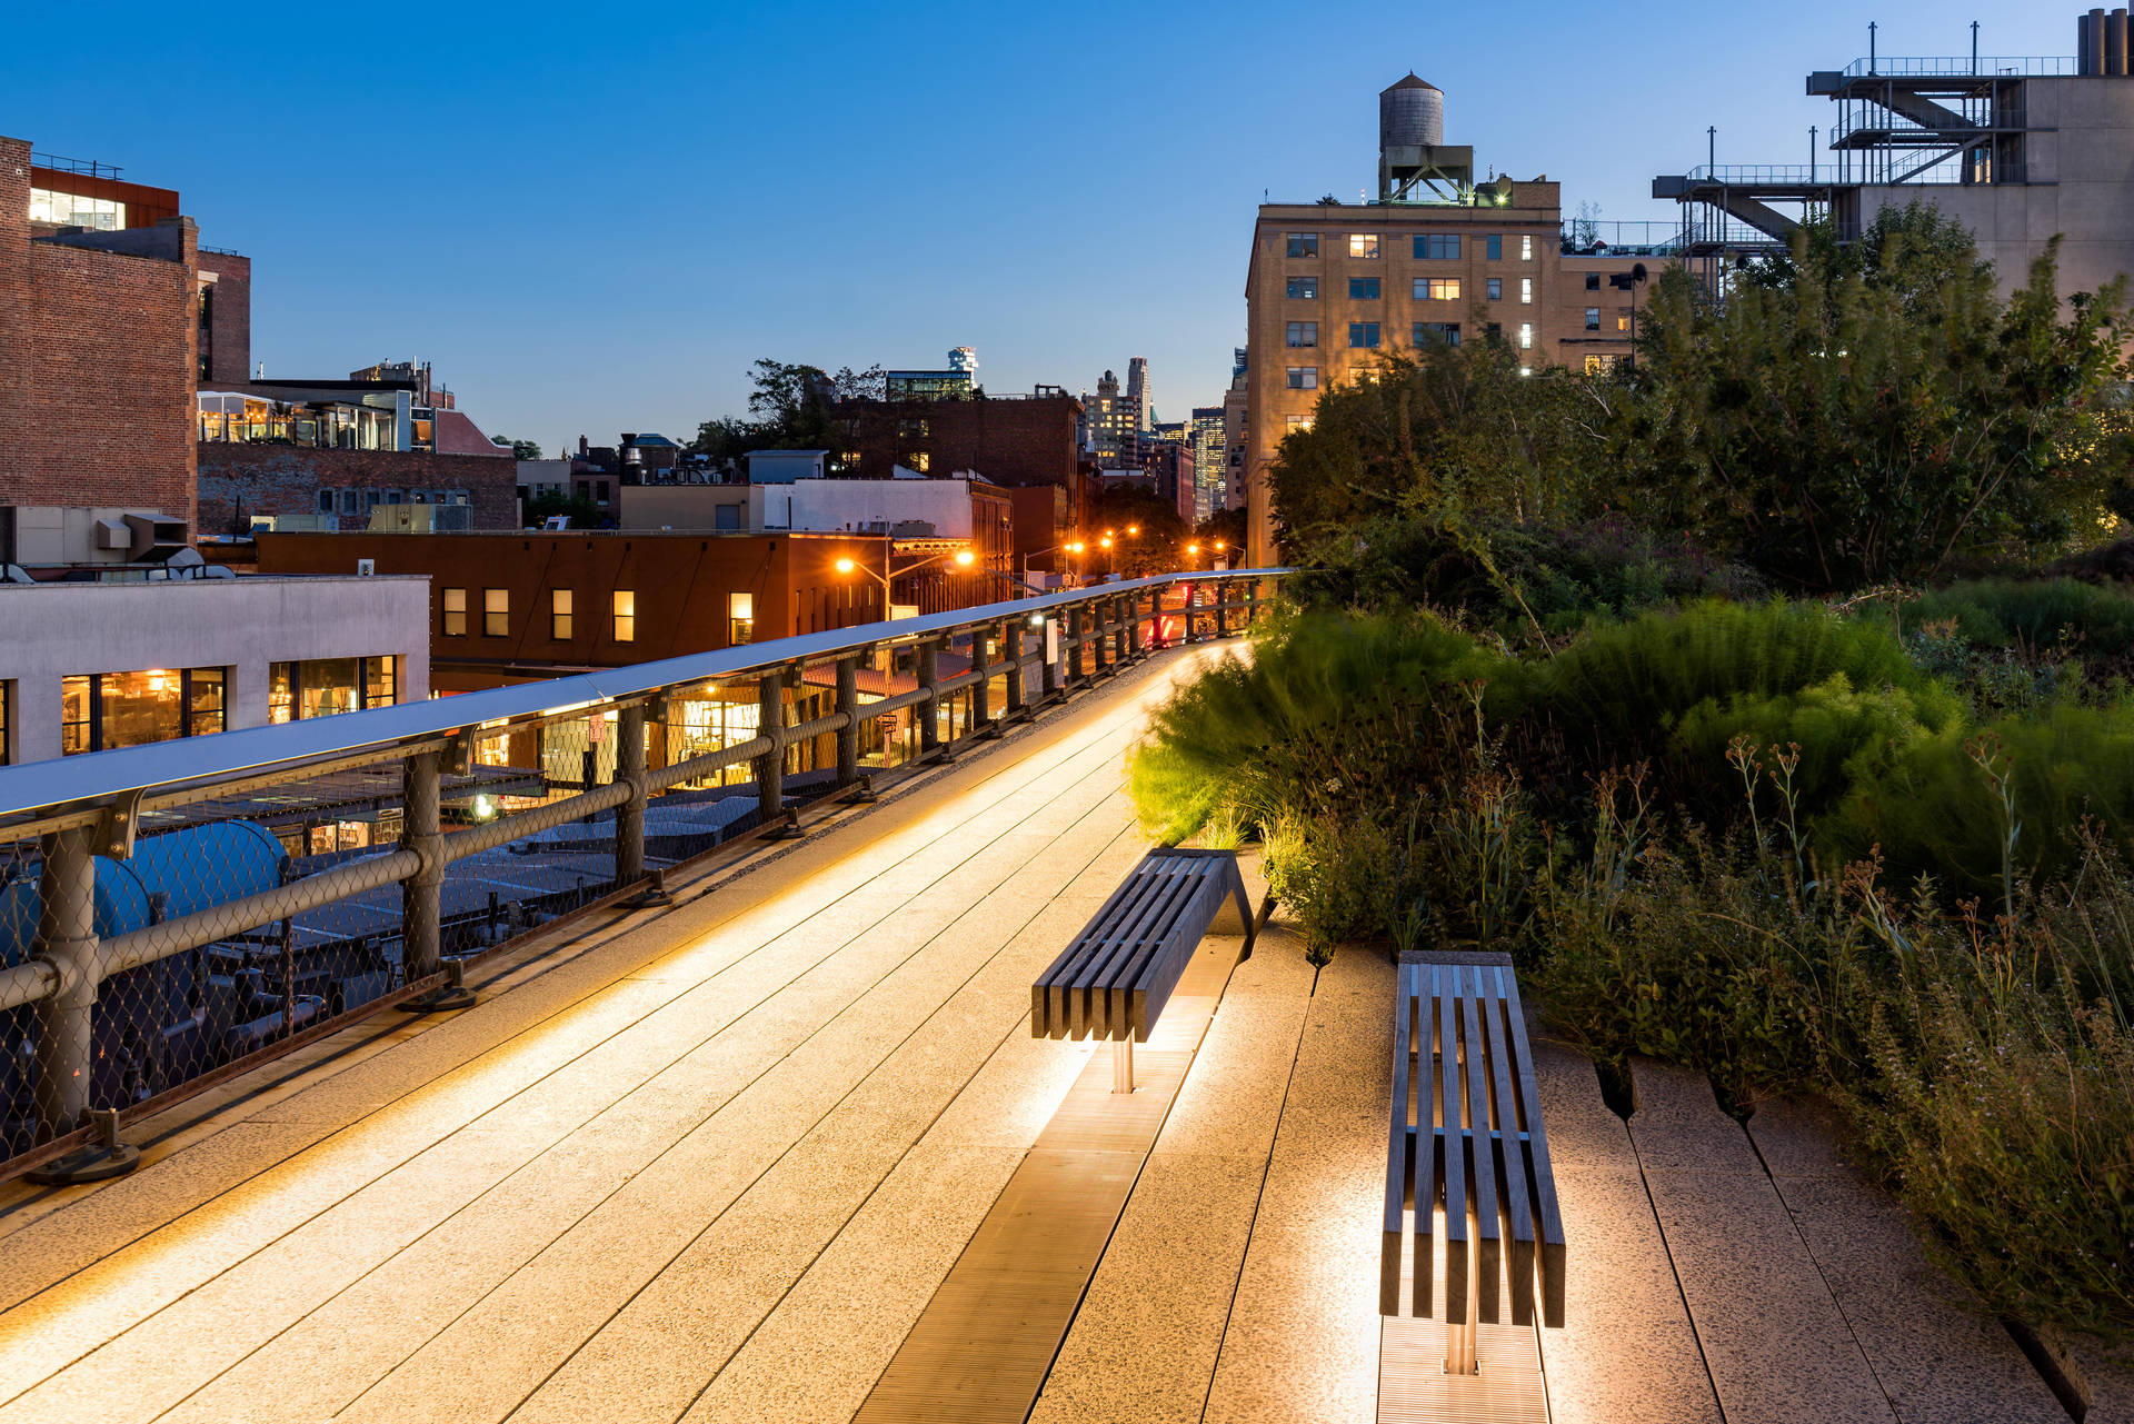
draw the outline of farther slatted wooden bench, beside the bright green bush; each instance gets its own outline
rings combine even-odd
[[[1253,952],[1236,852],[1148,852],[1031,984],[1031,1038],[1110,1040],[1112,1091],[1131,1093],[1133,1044],[1148,1042],[1210,931],[1244,935],[1244,954]]]

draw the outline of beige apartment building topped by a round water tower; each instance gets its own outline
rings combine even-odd
[[[1443,94],[1413,75],[1379,96],[1381,201],[1270,203],[1253,224],[1244,485],[1251,555],[1278,557],[1268,463],[1319,393],[1426,342],[1498,339],[1519,363],[1594,369],[1630,352],[1633,297],[1667,256],[1566,250],[1562,186],[1472,184],[1472,149],[1440,139]],[[1643,265],[1647,282],[1609,282]]]

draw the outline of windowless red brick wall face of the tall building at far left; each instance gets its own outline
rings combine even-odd
[[[0,504],[194,525],[194,231],[181,260],[30,241],[30,145],[0,139]]]

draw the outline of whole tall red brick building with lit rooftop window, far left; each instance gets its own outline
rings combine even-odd
[[[228,263],[213,260],[220,280]],[[175,192],[0,137],[0,561],[184,544],[198,286],[198,235]],[[233,318],[226,342],[248,325]]]

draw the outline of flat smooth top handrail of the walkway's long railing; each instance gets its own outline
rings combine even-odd
[[[915,643],[971,626],[999,623],[1012,617],[1069,608],[1122,594],[1176,587],[1180,583],[1276,579],[1287,572],[1285,568],[1253,568],[1127,579],[1039,598],[956,608],[952,613],[928,613],[911,619],[768,638],[764,643],[604,668],[600,673],[576,673],[516,687],[491,687],[487,692],[467,692],[429,702],[376,707],[337,717],[252,726],[181,741],[158,741],[6,766],[0,769],[0,837],[11,830],[6,824],[11,818],[105,805],[134,792],[158,792],[196,781],[299,769],[322,758],[348,760],[367,754],[384,758],[393,751],[444,745],[444,741],[469,726],[542,717],[589,702],[630,702],[647,698],[662,687],[747,679],[794,662],[802,666],[834,662],[837,658],[862,653],[883,643]]]

